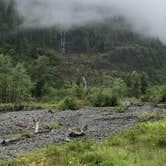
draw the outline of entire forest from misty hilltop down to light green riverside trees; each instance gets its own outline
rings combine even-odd
[[[15,5],[0,1],[2,103],[55,102],[85,84],[140,97],[165,84],[166,46],[134,33],[123,17],[68,30],[25,28]]]

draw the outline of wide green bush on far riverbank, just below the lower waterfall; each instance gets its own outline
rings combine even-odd
[[[94,107],[118,105],[118,97],[113,95],[110,89],[92,88],[88,92],[86,101]]]

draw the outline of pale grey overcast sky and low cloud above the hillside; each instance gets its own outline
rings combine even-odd
[[[137,32],[166,42],[166,0],[15,0],[28,27],[70,28],[123,16]]]

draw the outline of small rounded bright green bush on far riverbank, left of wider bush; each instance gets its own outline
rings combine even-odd
[[[65,97],[58,103],[58,109],[60,110],[78,110],[83,106],[83,101],[80,101],[75,97]]]

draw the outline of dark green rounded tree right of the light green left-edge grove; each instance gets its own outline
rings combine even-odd
[[[54,60],[47,56],[39,56],[29,66],[32,80],[35,82],[33,95],[41,98],[45,95],[52,96],[52,90],[57,87],[57,74]],[[60,81],[60,78],[59,78]]]

